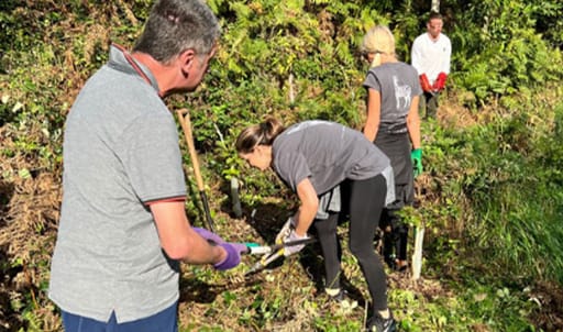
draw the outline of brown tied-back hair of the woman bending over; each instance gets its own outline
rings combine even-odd
[[[280,121],[268,117],[260,124],[254,124],[241,132],[236,139],[236,152],[252,153],[256,145],[272,145],[285,130]]]

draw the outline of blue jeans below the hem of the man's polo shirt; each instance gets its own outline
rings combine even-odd
[[[132,322],[119,324],[115,312],[111,313],[108,322],[62,311],[63,325],[66,332],[177,332],[178,302],[163,311]]]

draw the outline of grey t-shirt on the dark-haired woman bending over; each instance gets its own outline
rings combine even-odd
[[[382,174],[390,163],[358,131],[335,122],[305,121],[276,137],[273,165],[294,191],[309,178],[320,196],[344,179],[362,180]]]

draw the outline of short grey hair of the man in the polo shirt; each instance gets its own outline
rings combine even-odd
[[[198,56],[208,55],[220,34],[218,20],[205,2],[158,0],[133,51],[167,64],[186,49],[194,49]]]

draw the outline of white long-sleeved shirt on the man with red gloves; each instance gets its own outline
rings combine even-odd
[[[445,34],[440,33],[438,40],[432,41],[430,34],[426,32],[412,43],[410,58],[418,75],[426,74],[430,85],[433,85],[438,74],[450,74],[451,55],[452,44]]]

